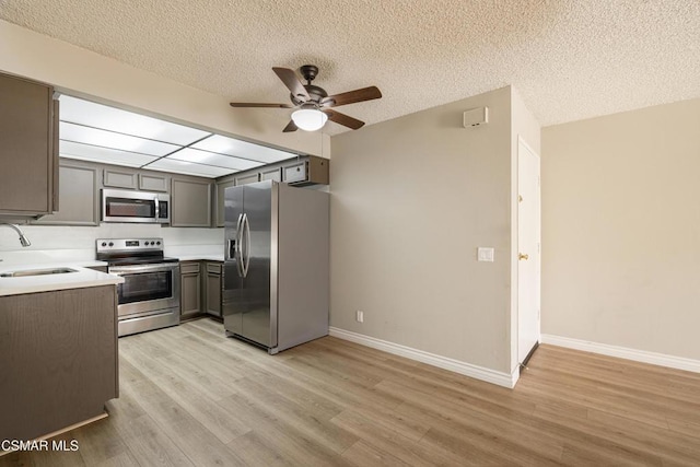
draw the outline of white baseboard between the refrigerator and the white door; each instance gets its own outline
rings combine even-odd
[[[373,349],[383,350],[395,355],[405,357],[407,359],[416,360],[422,363],[428,363],[429,365],[450,370],[452,372],[474,377],[476,380],[486,381],[487,383],[497,384],[499,386],[513,388],[515,387],[515,383],[520,377],[520,372],[517,371],[517,369],[515,369],[515,372],[513,374],[498,372],[495,370],[485,369],[482,366],[472,365],[459,360],[436,355],[434,353],[429,353],[422,350],[401,346],[399,343],[376,339],[363,334],[352,332],[336,327],[330,327],[329,334],[330,336],[337,337],[339,339],[349,340],[361,346],[371,347]]]

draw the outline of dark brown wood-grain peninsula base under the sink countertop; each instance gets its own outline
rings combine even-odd
[[[118,396],[115,285],[0,296],[0,440],[100,417]]]

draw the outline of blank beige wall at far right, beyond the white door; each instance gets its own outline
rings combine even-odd
[[[542,332],[700,360],[700,100],[542,130]]]

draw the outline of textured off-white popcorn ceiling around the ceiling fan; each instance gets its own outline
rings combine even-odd
[[[314,63],[330,94],[382,90],[341,108],[368,124],[506,84],[542,126],[700,97],[699,0],[0,0],[0,17],[237,102],[285,103],[271,67]]]

